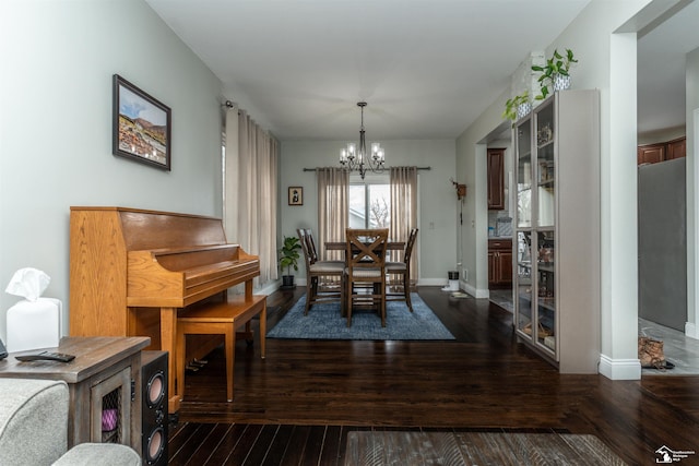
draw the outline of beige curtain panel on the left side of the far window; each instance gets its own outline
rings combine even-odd
[[[325,241],[344,241],[350,204],[350,174],[342,168],[317,168],[318,244],[324,260],[342,260],[343,251],[325,251]]]

